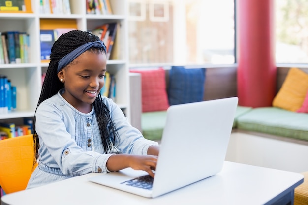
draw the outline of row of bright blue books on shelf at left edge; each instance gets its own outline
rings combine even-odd
[[[0,114],[16,110],[16,87],[4,75],[0,75]]]

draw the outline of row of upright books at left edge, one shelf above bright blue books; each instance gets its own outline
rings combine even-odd
[[[0,64],[28,63],[29,35],[19,31],[0,32]]]

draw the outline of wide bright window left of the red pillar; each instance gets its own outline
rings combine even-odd
[[[234,0],[129,0],[131,64],[235,63]]]

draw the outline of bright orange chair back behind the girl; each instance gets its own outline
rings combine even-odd
[[[33,135],[0,140],[0,186],[6,194],[26,189],[33,156]]]

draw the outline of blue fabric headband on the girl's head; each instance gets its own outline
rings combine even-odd
[[[62,59],[59,60],[57,72],[59,72],[61,68],[68,65],[70,62],[72,62],[74,59],[76,59],[78,56],[80,56],[82,53],[84,53],[91,47],[103,48],[104,51],[106,52],[106,47],[102,41],[94,41],[94,42],[92,41],[92,42],[85,43],[84,45],[79,46],[72,52],[66,54]]]

